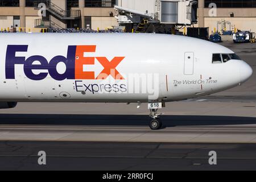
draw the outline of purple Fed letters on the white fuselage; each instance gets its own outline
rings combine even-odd
[[[67,58],[64,56],[55,56],[51,61],[46,60],[45,57],[35,55],[28,57],[16,57],[16,52],[27,52],[27,45],[8,45],[6,50],[6,79],[15,79],[15,64],[24,65],[24,73],[31,80],[43,80],[49,75],[55,80],[73,80],[75,79],[75,57],[76,46],[68,46]],[[33,64],[35,61],[39,61],[40,64]],[[57,64],[64,63],[66,70],[63,74],[57,72]],[[40,72],[34,74],[32,70],[47,70],[48,72]]]

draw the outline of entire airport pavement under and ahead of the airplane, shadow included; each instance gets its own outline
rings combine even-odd
[[[249,63],[253,76],[212,96],[168,103],[158,131],[148,127],[146,104],[38,102],[1,109],[0,170],[255,170],[256,44],[221,44]],[[37,163],[40,150],[46,166]],[[211,150],[216,166],[208,163]]]

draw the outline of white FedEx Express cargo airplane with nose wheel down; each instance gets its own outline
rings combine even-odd
[[[166,102],[221,92],[253,74],[230,49],[180,35],[10,33],[0,39],[0,109],[17,102],[147,103],[149,126],[158,130]]]

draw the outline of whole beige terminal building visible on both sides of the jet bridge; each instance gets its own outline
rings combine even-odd
[[[125,0],[131,1],[131,0]],[[159,0],[143,0],[143,2]],[[164,0],[174,1],[174,0]],[[46,16],[39,16],[40,3],[46,4]],[[114,18],[116,0],[0,0],[0,28],[53,27],[92,28],[118,26]],[[210,12],[217,5],[216,14]],[[144,3],[146,6],[146,3]],[[122,5],[118,5],[122,6]],[[54,7],[51,9],[50,7]],[[216,30],[251,30],[256,32],[256,0],[198,0],[198,23],[195,26]]]

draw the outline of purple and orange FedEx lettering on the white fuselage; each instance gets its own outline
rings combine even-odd
[[[16,56],[17,52],[27,52],[27,45],[8,45],[6,51],[6,79],[15,79],[15,65],[24,65],[24,74],[31,80],[43,80],[48,74],[55,80],[105,80],[112,76],[115,80],[123,80],[122,75],[116,67],[125,57],[114,57],[108,60],[106,57],[84,57],[86,52],[96,52],[96,46],[68,46],[67,57],[55,56],[49,62],[40,55],[26,57]],[[84,65],[93,65],[98,61],[104,69],[98,76],[92,71],[84,71]],[[40,64],[33,64],[39,61]],[[64,63],[66,70],[64,73],[57,72],[57,64]],[[35,75],[32,70],[42,70]],[[47,70],[47,71],[46,71]]]

